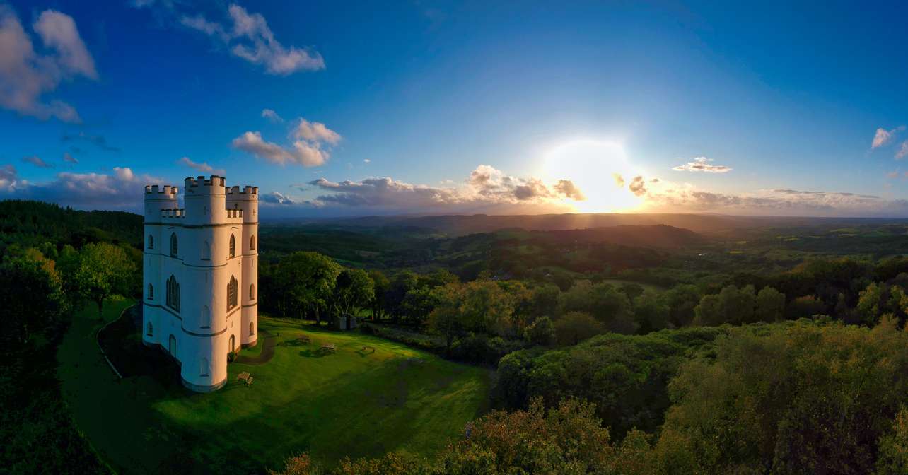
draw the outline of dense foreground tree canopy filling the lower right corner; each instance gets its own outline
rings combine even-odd
[[[894,319],[873,329],[804,320],[655,335],[529,356],[518,366],[544,393],[468,424],[433,459],[389,453],[329,471],[301,455],[272,473],[908,472],[908,333]],[[608,394],[625,381],[630,389]]]

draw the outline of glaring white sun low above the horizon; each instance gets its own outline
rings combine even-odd
[[[631,211],[643,203],[627,190],[627,183],[641,173],[627,162],[620,143],[577,140],[558,145],[546,153],[542,173],[548,180],[577,185],[587,199],[571,204],[581,213]],[[618,186],[616,175],[627,183]]]

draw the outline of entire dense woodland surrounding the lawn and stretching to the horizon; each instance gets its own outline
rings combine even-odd
[[[283,472],[905,473],[908,228],[684,219],[263,223],[262,314],[496,372],[493,411],[437,458]],[[0,226],[0,466],[104,473],[54,349],[74,308],[141,295],[142,217],[6,201]]]

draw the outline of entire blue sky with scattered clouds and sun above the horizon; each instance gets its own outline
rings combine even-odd
[[[905,216],[906,16],[898,3],[13,2],[0,197],[137,209],[146,182],[223,172],[258,185],[271,216]]]

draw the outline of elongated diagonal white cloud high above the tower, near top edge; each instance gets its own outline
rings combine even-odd
[[[182,8],[184,5],[179,5]],[[223,23],[211,21],[195,12],[177,13],[175,4],[164,10],[179,15],[179,23],[200,31],[226,46],[231,54],[252,64],[264,66],[269,74],[287,75],[297,71],[318,71],[325,62],[311,48],[284,46],[275,37],[261,14],[249,13],[240,5],[227,7]]]

